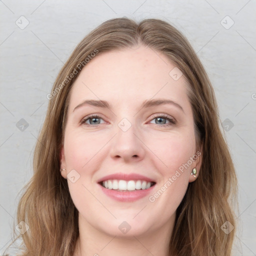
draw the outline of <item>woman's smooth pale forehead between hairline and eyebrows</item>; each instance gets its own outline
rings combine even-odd
[[[183,75],[165,55],[148,47],[100,52],[81,70],[70,95],[70,107],[86,98],[104,99],[129,105],[153,97],[185,100],[188,103]],[[180,75],[180,73],[177,73]],[[176,78],[176,77],[174,77]]]

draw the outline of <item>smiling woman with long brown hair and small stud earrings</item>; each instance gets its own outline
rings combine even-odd
[[[179,31],[102,23],[47,98],[18,205],[20,255],[231,255],[235,171],[212,86]]]

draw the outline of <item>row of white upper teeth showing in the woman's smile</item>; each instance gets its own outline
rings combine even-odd
[[[108,179],[102,182],[103,187],[108,189],[115,190],[139,190],[139,189],[147,189],[151,186],[150,181],[145,180],[117,180],[117,179]]]

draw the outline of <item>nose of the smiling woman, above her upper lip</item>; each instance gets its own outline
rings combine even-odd
[[[118,128],[119,129],[119,128]],[[144,158],[145,146],[133,125],[126,131],[117,130],[112,139],[110,156],[125,162],[140,161]]]

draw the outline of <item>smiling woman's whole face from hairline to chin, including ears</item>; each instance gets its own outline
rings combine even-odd
[[[81,70],[61,150],[79,224],[111,236],[170,230],[199,154],[184,76],[163,54],[99,52]]]

